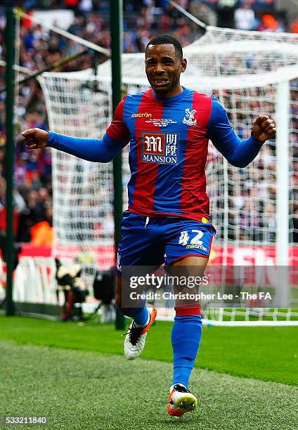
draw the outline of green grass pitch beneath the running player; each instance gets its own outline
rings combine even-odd
[[[190,383],[199,408],[183,419],[165,412],[170,332],[157,321],[130,362],[112,325],[0,315],[0,416],[46,415],[59,430],[298,428],[297,327],[205,327]]]

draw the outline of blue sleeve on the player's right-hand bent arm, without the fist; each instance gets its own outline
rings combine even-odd
[[[264,142],[251,135],[245,140],[233,130],[226,110],[216,97],[212,96],[212,112],[207,126],[207,137],[216,149],[235,167],[246,167],[257,157]]]

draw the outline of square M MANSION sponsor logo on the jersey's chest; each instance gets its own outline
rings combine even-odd
[[[179,163],[179,133],[142,132],[142,160],[150,163]]]

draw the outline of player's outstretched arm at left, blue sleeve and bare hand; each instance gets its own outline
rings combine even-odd
[[[115,141],[108,136],[108,133],[105,133],[102,139],[84,139],[53,133],[53,131],[29,129],[24,131],[22,136],[28,149],[49,146],[91,162],[102,163],[110,162],[128,143]]]

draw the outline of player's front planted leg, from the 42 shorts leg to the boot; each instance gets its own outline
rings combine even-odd
[[[171,265],[171,274],[180,279],[194,276],[202,279],[215,230],[209,223],[190,220],[181,221],[178,230],[166,247],[166,263]],[[197,290],[193,286],[176,285],[175,293],[183,293],[187,297],[187,293],[193,296]],[[181,416],[194,410],[197,405],[197,399],[188,391],[188,382],[200,347],[202,319],[200,303],[194,299],[176,300],[175,311],[171,333],[174,372],[168,413]]]

